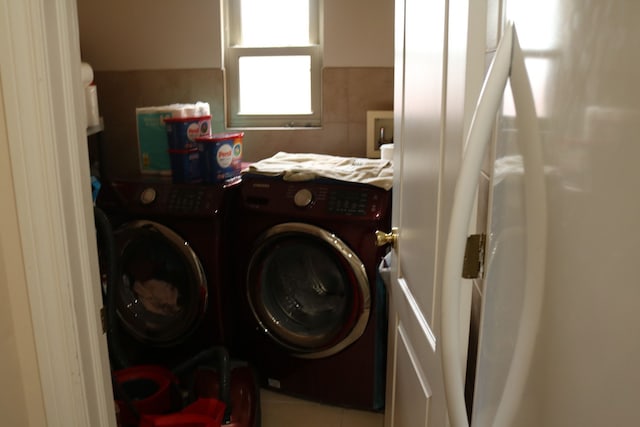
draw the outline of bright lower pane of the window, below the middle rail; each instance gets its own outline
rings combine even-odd
[[[239,58],[239,114],[311,114],[309,56]]]

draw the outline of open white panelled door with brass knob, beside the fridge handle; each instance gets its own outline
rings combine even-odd
[[[474,3],[474,2],[471,2]],[[486,2],[397,0],[393,225],[387,427],[448,424],[440,341],[440,275],[464,130],[484,71]],[[479,10],[477,10],[478,8]],[[470,25],[471,24],[471,25]],[[476,42],[480,40],[480,48]],[[461,304],[467,348],[469,295]],[[459,363],[464,369],[466,350]]]

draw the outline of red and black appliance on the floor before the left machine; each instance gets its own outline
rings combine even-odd
[[[132,366],[113,373],[121,427],[257,427],[259,391],[251,368],[213,347],[173,370]]]

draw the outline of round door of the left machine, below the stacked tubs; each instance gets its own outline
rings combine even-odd
[[[135,339],[158,347],[175,345],[201,322],[207,280],[189,243],[153,221],[134,221],[115,231],[121,280],[116,310]]]

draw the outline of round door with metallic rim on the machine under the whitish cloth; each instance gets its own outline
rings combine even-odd
[[[284,223],[256,242],[247,297],[260,328],[302,358],[336,354],[369,320],[371,295],[363,263],[334,234]]]

